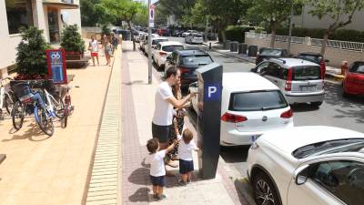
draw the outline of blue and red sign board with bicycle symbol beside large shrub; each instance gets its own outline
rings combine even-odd
[[[55,84],[67,84],[65,50],[46,49],[45,55],[48,66],[48,79],[53,79]]]

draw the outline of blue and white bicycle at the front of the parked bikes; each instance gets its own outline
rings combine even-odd
[[[52,106],[45,105],[45,101],[41,96],[42,92],[32,92],[29,82],[16,84],[13,90],[18,98],[12,110],[14,128],[16,130],[22,128],[25,115],[34,114],[39,128],[51,137],[55,131],[53,118],[56,118],[56,114]]]

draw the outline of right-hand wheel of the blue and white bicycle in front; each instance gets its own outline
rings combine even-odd
[[[45,135],[51,137],[55,132],[52,118],[48,117],[48,114],[44,108],[38,108],[35,106],[35,121],[39,128],[45,133]]]

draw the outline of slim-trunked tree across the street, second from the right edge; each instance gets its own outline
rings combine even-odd
[[[323,0],[325,1],[325,0]],[[278,26],[290,15],[291,4],[294,0],[254,0],[248,9],[248,16],[268,23],[271,29],[270,46],[274,47]]]

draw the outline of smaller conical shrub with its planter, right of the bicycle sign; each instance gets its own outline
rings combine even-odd
[[[66,51],[66,60],[81,60],[84,57],[85,41],[78,33],[77,25],[65,26],[61,36],[61,46]]]

